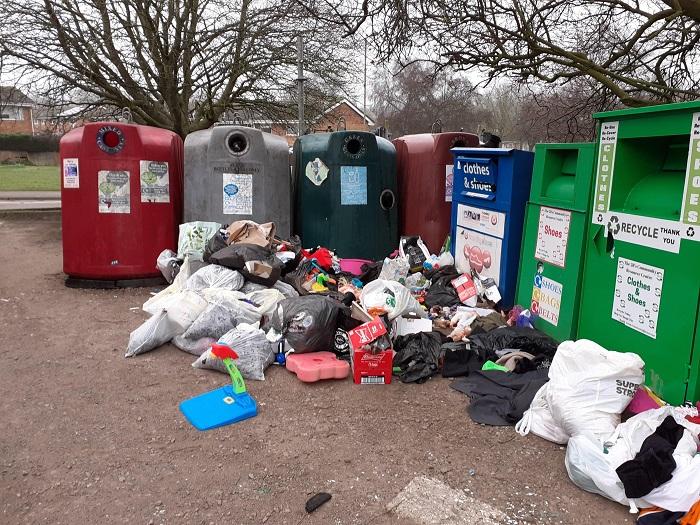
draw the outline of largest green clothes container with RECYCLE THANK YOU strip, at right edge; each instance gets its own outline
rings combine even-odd
[[[593,115],[578,336],[635,352],[672,404],[700,398],[700,101]]]

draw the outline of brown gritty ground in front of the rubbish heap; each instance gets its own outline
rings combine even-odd
[[[178,403],[222,386],[166,345],[124,358],[150,289],[63,285],[58,213],[0,215],[0,522],[413,523],[387,504],[417,476],[511,523],[633,523],[579,490],[564,449],[473,423],[426,384],[249,381],[256,418],[209,432]],[[319,491],[333,498],[306,515]],[[476,521],[474,523],[477,523]]]

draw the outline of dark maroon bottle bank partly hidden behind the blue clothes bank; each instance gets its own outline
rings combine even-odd
[[[473,133],[421,133],[393,140],[399,188],[399,231],[420,235],[438,254],[450,233],[452,212],[451,148],[476,147]]]

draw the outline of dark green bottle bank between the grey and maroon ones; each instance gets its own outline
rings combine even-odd
[[[372,133],[337,131],[294,143],[294,230],[305,247],[380,260],[398,246],[396,150]]]

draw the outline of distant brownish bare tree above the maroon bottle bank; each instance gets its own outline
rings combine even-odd
[[[372,105],[379,122],[393,136],[427,133],[438,119],[443,131],[478,131],[485,114],[465,78],[441,71],[433,74],[414,63],[396,74],[380,71],[372,86]]]

